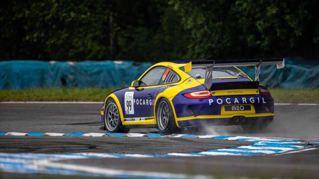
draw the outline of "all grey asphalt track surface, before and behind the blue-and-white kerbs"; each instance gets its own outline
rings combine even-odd
[[[101,121],[100,107],[101,104],[0,104],[0,132],[101,133],[103,131],[98,130]],[[203,135],[319,140],[318,108],[318,105],[276,105],[274,121],[264,132],[245,133],[240,126],[214,126],[208,127]],[[130,132],[156,131],[157,129],[152,128],[138,128]],[[241,145],[249,145],[249,142],[194,138],[0,136],[0,152],[8,153],[165,154],[199,152]],[[221,178],[319,178],[318,148],[293,154],[264,156],[108,158],[63,162],[141,172],[170,172]],[[23,178],[64,178],[60,175],[14,173],[2,173],[0,178],[21,178],[22,176]]]

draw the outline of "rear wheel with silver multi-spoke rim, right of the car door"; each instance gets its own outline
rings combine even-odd
[[[156,107],[156,125],[160,134],[168,135],[184,131],[184,128],[176,125],[173,108],[168,99],[161,99]]]

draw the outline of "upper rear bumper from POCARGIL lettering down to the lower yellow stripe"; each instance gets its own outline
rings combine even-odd
[[[247,95],[246,95],[247,96]],[[177,95],[172,99],[173,110],[177,121],[189,117],[194,118],[228,118],[228,114],[249,113],[250,116],[268,116],[274,113],[274,100],[271,96],[253,95],[254,97],[229,97],[220,98],[212,96],[205,99],[190,99],[183,95]],[[250,111],[225,111],[227,105],[250,105]],[[226,116],[225,116],[226,115]],[[205,117],[202,117],[205,116]],[[210,117],[206,117],[210,116]]]

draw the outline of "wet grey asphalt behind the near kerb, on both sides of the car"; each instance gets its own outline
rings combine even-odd
[[[100,131],[102,104],[0,104],[0,132],[90,133]],[[319,105],[275,105],[267,130],[246,133],[241,126],[210,126],[203,134],[319,140]],[[157,132],[155,128],[130,132]]]

